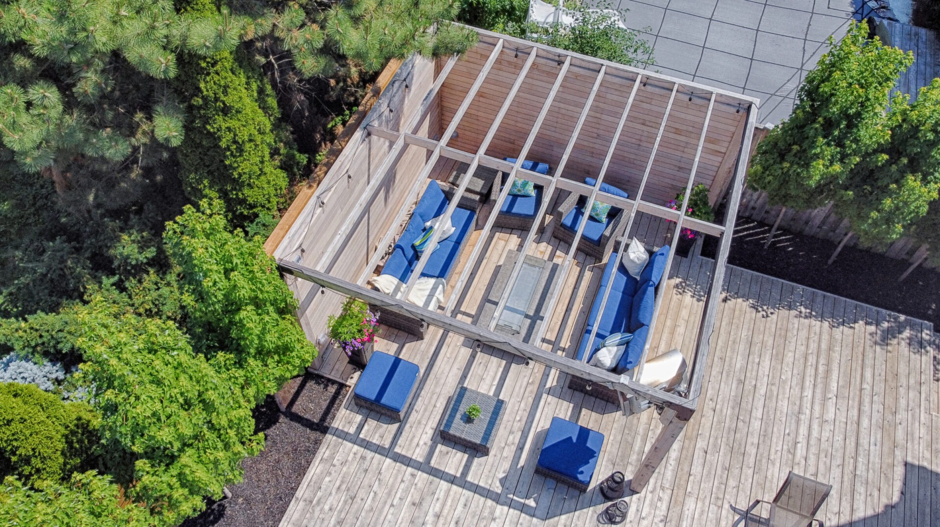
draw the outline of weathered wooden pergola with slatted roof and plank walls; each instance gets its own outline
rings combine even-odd
[[[478,33],[478,45],[463,57],[413,56],[399,68],[317,193],[308,202],[295,204],[303,209],[274,256],[282,271],[303,280],[292,286],[301,298],[301,323],[311,338],[321,333],[324,313],[336,306],[336,301],[318,294],[321,288],[328,289],[601,383],[622,394],[625,413],[629,400],[648,400],[665,409],[664,426],[633,476],[631,488],[638,491],[697,408],[759,101],[521,39]],[[519,177],[543,185],[545,198],[537,218],[554,212],[549,207],[560,191],[586,196],[586,208],[601,200],[623,209],[624,221],[616,233],[618,258],[639,214],[674,222],[673,233],[688,227],[718,237],[711,284],[697,320],[697,342],[690,350],[686,396],[637,381],[649,341],[639,365],[620,376],[540,347],[545,324],[527,341],[494,332],[508,295],[503,295],[489,319],[473,324],[456,318],[462,294],[486,251],[496,213],[509,194],[508,184],[495,196],[493,211],[478,229],[478,241],[467,248],[467,263],[448,280],[446,302],[437,310],[366,287],[385,248],[394,242],[396,227],[406,220],[408,205],[442,159],[469,164],[450,199],[447,218],[458,207],[470,176],[482,166],[508,173],[509,181]],[[555,170],[550,175],[525,170],[522,165],[529,159],[544,160]],[[585,184],[585,176],[594,178],[595,184]],[[603,192],[603,182],[629,189],[631,197]],[[722,224],[686,215],[688,196],[699,182],[711,188],[713,204],[724,203]],[[684,193],[682,206],[666,207],[666,200],[677,193]],[[564,256],[562,276],[575,260],[586,224],[581,222]],[[539,233],[535,225],[524,233],[522,255]],[[432,235],[429,251],[438,234]],[[664,276],[674,258],[672,251]],[[508,288],[523,261],[520,257],[512,266]],[[402,298],[415,287],[426,263],[418,260]],[[566,294],[571,293],[561,280],[550,287],[548,313],[559,302],[567,303]],[[607,288],[602,313],[609,294]],[[653,327],[660,318],[661,297],[657,295]]]

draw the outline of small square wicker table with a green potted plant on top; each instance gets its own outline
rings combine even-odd
[[[466,409],[472,404],[479,406],[480,414],[477,419],[470,421]],[[493,444],[505,409],[506,401],[503,399],[461,386],[457,393],[450,397],[444,424],[441,426],[441,439],[473,448],[484,455],[489,454],[490,445]]]

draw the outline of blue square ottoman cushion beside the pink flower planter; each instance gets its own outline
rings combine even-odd
[[[417,382],[417,364],[375,351],[355,384],[357,397],[384,406],[392,411],[403,411],[408,395]]]

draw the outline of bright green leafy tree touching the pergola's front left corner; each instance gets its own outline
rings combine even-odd
[[[273,394],[316,357],[294,318],[297,302],[262,240],[229,229],[217,202],[184,209],[166,226],[166,250],[180,269],[196,349],[238,370],[245,397]]]

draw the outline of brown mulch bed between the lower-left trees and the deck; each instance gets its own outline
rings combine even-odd
[[[210,504],[184,527],[263,527],[277,525],[313,460],[330,423],[342,406],[346,386],[306,374],[291,379],[255,410],[256,431],[264,432],[264,450],[242,462],[243,482],[229,486],[232,497]]]

